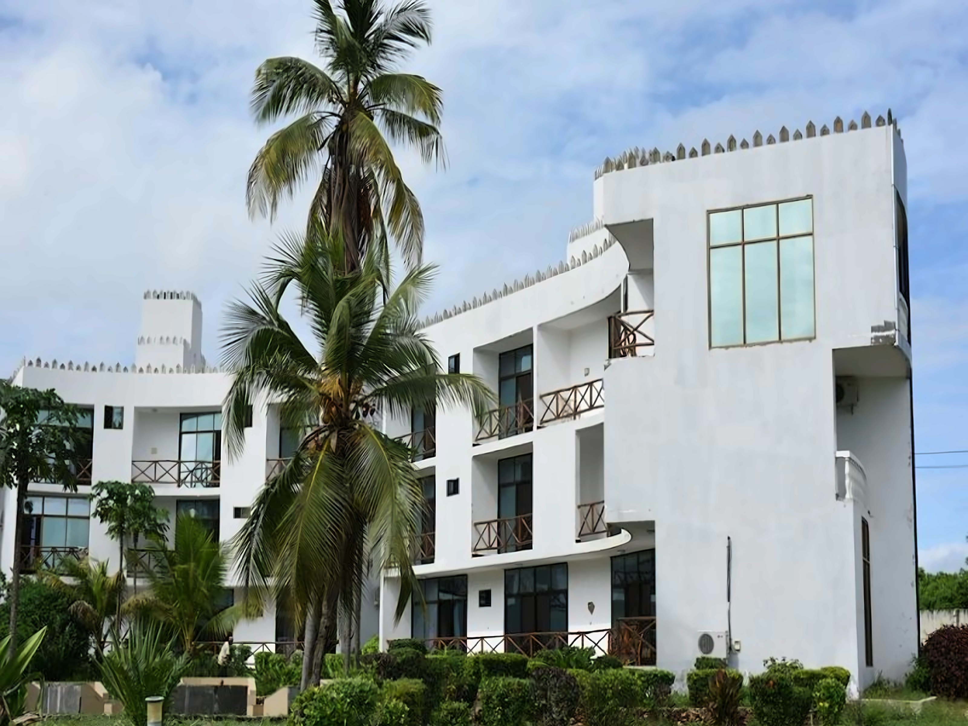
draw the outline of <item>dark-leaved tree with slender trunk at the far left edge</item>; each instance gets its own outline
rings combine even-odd
[[[16,652],[16,622],[23,558],[23,504],[33,481],[52,481],[77,491],[76,451],[90,437],[77,428],[79,411],[53,389],[38,391],[0,380],[0,486],[16,490],[14,565],[10,597],[9,657]]]

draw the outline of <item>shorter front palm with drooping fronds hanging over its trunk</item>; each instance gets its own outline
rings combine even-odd
[[[241,453],[245,411],[255,400],[278,403],[281,424],[307,433],[259,492],[233,544],[246,587],[287,599],[305,621],[305,685],[310,660],[318,674],[317,634],[327,631],[338,597],[348,659],[369,560],[399,567],[398,619],[413,586],[421,488],[410,449],[380,431],[378,414],[406,416],[437,402],[480,411],[494,396],[479,378],[442,373],[419,329],[432,266],[410,270],[383,302],[378,254],[369,249],[360,268],[346,272],[342,238],[320,223],[304,239],[284,240],[275,255],[249,302],[228,310],[225,361],[235,371],[224,406],[228,453]],[[312,345],[280,310],[289,287]]]

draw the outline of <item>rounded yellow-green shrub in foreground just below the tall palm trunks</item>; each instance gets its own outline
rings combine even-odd
[[[342,679],[307,688],[289,710],[289,726],[371,726],[377,711],[377,684],[367,679]]]

